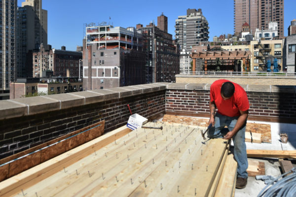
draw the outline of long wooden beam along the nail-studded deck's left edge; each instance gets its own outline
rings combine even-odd
[[[123,126],[40,165],[37,165],[34,168],[4,180],[0,184],[0,196],[9,197],[15,195],[21,189],[25,189],[36,184],[40,180],[45,179],[59,170],[62,170],[64,167],[67,167],[93,153],[93,150],[100,149],[107,144],[114,142],[115,139],[120,138],[130,131],[131,130],[129,128]]]

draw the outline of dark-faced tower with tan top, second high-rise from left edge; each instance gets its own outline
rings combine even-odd
[[[32,50],[47,47],[47,10],[42,0],[26,0],[17,11],[17,76],[32,77]]]

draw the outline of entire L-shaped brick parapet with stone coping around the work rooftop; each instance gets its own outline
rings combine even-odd
[[[0,158],[105,120],[105,132],[127,123],[130,113],[208,117],[211,84],[154,83],[45,97],[0,100]],[[251,116],[296,120],[295,86],[240,84]],[[267,120],[268,121],[268,120]]]

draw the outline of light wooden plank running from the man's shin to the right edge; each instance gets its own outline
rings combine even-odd
[[[248,157],[262,158],[292,158],[296,159],[296,151],[279,151],[279,150],[247,150]]]

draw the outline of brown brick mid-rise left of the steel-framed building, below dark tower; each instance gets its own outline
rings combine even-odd
[[[67,70],[70,77],[79,77],[79,61],[82,60],[82,52],[66,51],[62,46],[61,50],[48,49],[40,45],[37,52],[33,52],[33,77],[42,76],[42,71],[53,71],[54,76],[67,76]],[[80,70],[82,72],[82,70]]]

